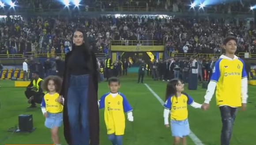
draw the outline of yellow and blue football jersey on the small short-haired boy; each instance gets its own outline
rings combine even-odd
[[[99,109],[105,108],[104,119],[107,127],[107,134],[123,135],[125,129],[124,112],[132,111],[124,94],[120,92],[116,97],[111,93],[104,94],[99,100]]]

